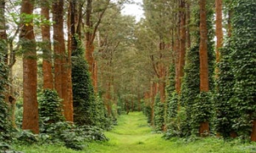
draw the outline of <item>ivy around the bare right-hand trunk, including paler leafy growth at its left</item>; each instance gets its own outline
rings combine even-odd
[[[214,71],[214,50],[213,50],[213,29],[212,29],[212,9],[207,8],[207,54],[210,90],[214,89],[213,71]],[[189,136],[198,134],[201,122],[210,122],[212,120],[212,94],[200,92],[200,31],[199,10],[194,10],[194,21],[191,27],[195,29],[192,37],[195,41],[186,52],[186,64],[184,67],[184,77],[182,80],[181,94],[172,94],[169,101],[167,112],[171,117],[166,135],[171,136]],[[170,94],[170,91],[168,91]],[[168,96],[170,97],[170,96]],[[171,103],[170,103],[171,102]],[[180,105],[177,108],[177,105]],[[176,107],[177,109],[175,110]],[[177,112],[176,112],[177,111]],[[180,112],[179,112],[180,111]]]

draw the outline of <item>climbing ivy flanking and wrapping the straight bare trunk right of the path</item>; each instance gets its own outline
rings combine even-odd
[[[195,8],[194,21],[192,25],[199,27],[199,8]],[[212,29],[212,8],[207,6],[207,54],[209,87],[214,89],[214,50],[213,50],[213,29]],[[201,122],[210,122],[212,119],[212,94],[200,92],[200,31],[195,30],[191,33],[195,38],[194,44],[186,53],[186,65],[184,66],[184,77],[181,90],[180,103],[184,107],[187,121],[184,122],[185,135],[197,134]],[[190,129],[190,130],[189,130]],[[192,132],[192,133],[191,133]]]

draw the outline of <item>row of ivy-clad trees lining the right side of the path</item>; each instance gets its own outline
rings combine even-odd
[[[153,66],[153,75],[148,78],[151,83],[144,94],[149,122],[157,130],[166,130],[167,137],[211,132],[254,141],[255,46],[251,41],[255,3],[143,3],[146,18],[137,32],[137,47],[147,53],[148,63]],[[143,44],[145,39],[147,44]]]

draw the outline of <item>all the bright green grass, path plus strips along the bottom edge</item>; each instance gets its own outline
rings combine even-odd
[[[119,125],[106,132],[108,142],[90,142],[85,150],[68,150],[62,146],[18,146],[26,153],[256,153],[256,144],[241,144],[239,141],[224,142],[222,139],[207,138],[161,139],[161,134],[152,133],[146,117],[140,112],[119,116]]]

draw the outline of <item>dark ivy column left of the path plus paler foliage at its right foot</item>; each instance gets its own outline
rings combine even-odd
[[[88,65],[83,57],[81,46],[73,52],[73,118],[78,125],[91,125],[109,128],[111,122],[101,97],[94,94]]]

